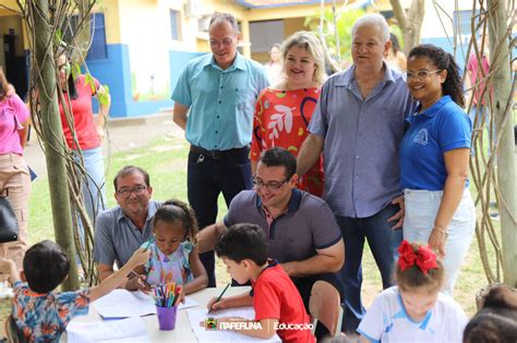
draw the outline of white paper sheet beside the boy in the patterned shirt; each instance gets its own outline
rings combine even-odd
[[[70,343],[151,343],[144,322],[140,317],[91,322],[72,321],[67,327],[67,336]]]

